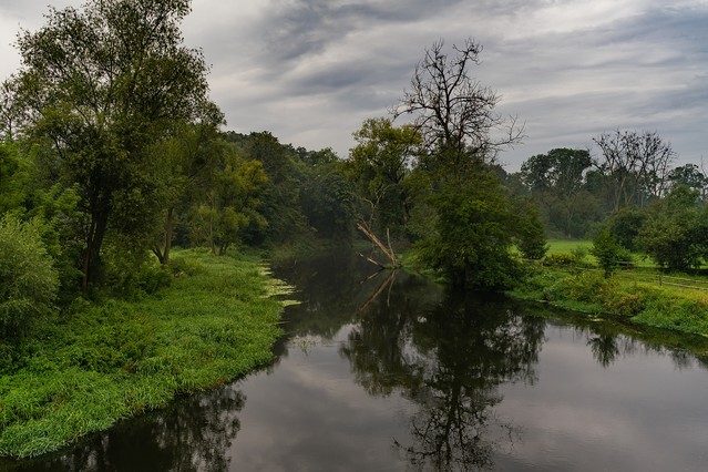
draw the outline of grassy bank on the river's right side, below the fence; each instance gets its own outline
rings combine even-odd
[[[507,294],[596,317],[708,337],[708,293],[626,279],[599,270],[529,265],[524,280]]]

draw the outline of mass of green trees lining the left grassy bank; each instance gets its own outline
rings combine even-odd
[[[188,11],[92,1],[18,35],[22,65],[0,93],[3,359],[79,297],[170,284],[174,245],[224,255],[351,236],[353,186],[331,150],[220,131],[208,68],[182,41]]]

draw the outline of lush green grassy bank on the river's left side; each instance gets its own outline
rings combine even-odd
[[[185,250],[173,268],[158,294],[76,302],[23,343],[0,377],[0,455],[58,450],[271,360],[283,302],[256,260]]]

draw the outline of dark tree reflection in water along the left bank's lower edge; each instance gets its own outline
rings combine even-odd
[[[184,398],[164,410],[119,424],[54,460],[44,458],[27,466],[71,472],[225,471],[245,400],[229,386]]]

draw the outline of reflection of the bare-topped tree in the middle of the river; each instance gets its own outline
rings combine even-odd
[[[504,382],[536,379],[545,321],[475,294],[421,304],[406,281],[370,304],[341,348],[370,394],[400,391],[418,406],[412,444],[393,440],[417,469],[491,469],[517,431],[494,415]],[[402,286],[402,287],[401,287]]]

